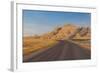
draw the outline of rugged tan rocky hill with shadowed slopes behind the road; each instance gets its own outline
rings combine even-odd
[[[40,38],[62,40],[62,39],[90,39],[91,29],[89,27],[80,27],[72,24],[65,24],[57,27],[53,31],[42,35]]]

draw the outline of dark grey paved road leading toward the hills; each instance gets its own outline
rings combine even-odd
[[[24,62],[80,60],[90,58],[90,50],[86,50],[75,43],[61,40],[51,48],[42,50],[36,54],[28,55],[24,59]]]

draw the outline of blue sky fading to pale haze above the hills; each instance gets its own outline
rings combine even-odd
[[[90,13],[23,10],[22,15],[24,36],[41,35],[64,24],[91,24]]]

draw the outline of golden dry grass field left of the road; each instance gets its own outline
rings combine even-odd
[[[55,44],[57,44],[57,41],[55,40],[47,40],[47,39],[41,39],[41,38],[32,38],[32,37],[25,37],[23,39],[23,55],[28,55],[30,53],[33,53],[35,51],[49,48]]]

